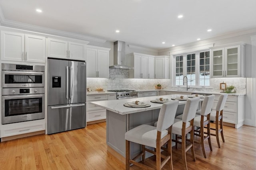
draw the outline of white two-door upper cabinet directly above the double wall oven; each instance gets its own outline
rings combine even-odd
[[[1,60],[45,63],[45,37],[1,31]]]

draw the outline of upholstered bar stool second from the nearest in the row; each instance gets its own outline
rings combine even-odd
[[[176,149],[178,148],[178,143],[182,145],[182,160],[184,169],[188,169],[186,152],[189,149],[191,149],[193,160],[196,161],[194,152],[194,117],[196,115],[196,109],[198,108],[199,100],[199,97],[188,99],[184,107],[182,120],[174,119],[174,122],[176,123],[172,125],[172,133],[175,134],[175,139],[172,139],[172,141],[176,143]],[[189,132],[190,145],[186,147],[186,135]],[[178,135],[181,136],[181,142],[178,140]]]

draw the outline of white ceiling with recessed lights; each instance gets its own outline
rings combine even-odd
[[[7,21],[152,49],[256,28],[256,0],[0,0],[0,7]]]

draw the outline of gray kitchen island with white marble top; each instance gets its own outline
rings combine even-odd
[[[130,129],[142,124],[154,125],[154,123],[158,120],[158,115],[162,104],[152,103],[150,101],[156,100],[156,98],[168,98],[171,101],[171,98],[175,98],[176,96],[180,95],[173,94],[165,96],[150,96],[144,98],[91,102],[91,104],[100,106],[107,110],[106,143],[108,145],[108,151],[120,160],[124,161],[126,149],[124,135],[126,131],[129,131]],[[125,103],[135,100],[150,104],[150,107],[134,108],[124,106]],[[201,99],[201,101],[202,100],[203,99]],[[185,104],[186,101],[179,102],[176,115],[182,113]],[[132,158],[141,150],[140,145],[136,143],[131,143],[130,148],[130,155]]]

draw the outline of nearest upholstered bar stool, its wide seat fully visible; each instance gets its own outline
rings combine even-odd
[[[167,102],[162,104],[162,107],[158,116],[157,126],[140,125],[127,131],[125,133],[126,140],[126,170],[130,169],[130,164],[134,164],[144,169],[152,169],[152,167],[145,164],[136,162],[137,158],[142,156],[142,162],[145,161],[145,151],[156,155],[156,169],[160,170],[164,164],[170,163],[170,169],[172,166],[172,124],[174,123],[175,113],[178,108],[178,100]],[[166,130],[168,129],[168,131]],[[130,142],[138,143],[142,145],[142,152],[135,156],[134,159],[130,159]],[[161,147],[167,143],[168,155],[161,155]],[[154,147],[156,151],[145,148],[146,146]],[[164,160],[161,162],[161,158]]]

